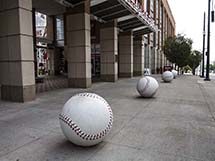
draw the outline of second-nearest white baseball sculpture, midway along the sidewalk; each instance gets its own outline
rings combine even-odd
[[[137,83],[137,91],[143,97],[153,97],[157,92],[159,84],[157,80],[150,76],[139,79]]]

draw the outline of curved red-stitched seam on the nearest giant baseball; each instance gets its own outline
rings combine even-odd
[[[64,123],[66,123],[75,132],[75,134],[78,135],[83,140],[97,140],[97,139],[100,139],[103,136],[105,136],[111,129],[112,122],[113,122],[113,113],[110,108],[110,105],[102,97],[93,95],[90,93],[80,93],[75,96],[96,98],[96,99],[101,100],[103,103],[105,103],[107,105],[110,116],[109,116],[109,122],[108,122],[108,125],[106,126],[106,128],[97,134],[87,134],[71,118],[69,118],[65,114],[60,114],[59,119],[62,120]]]

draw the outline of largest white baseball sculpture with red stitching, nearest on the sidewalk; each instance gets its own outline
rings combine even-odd
[[[113,114],[110,105],[99,95],[80,93],[66,102],[59,119],[68,140],[76,145],[92,146],[109,133]]]

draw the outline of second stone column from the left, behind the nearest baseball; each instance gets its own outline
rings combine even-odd
[[[87,88],[92,84],[90,0],[68,9],[65,16],[69,87]]]

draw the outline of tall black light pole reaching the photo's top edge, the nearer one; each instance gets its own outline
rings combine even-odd
[[[208,0],[208,37],[207,37],[207,64],[205,81],[210,81],[209,66],[210,66],[210,18],[211,18],[211,0]]]

